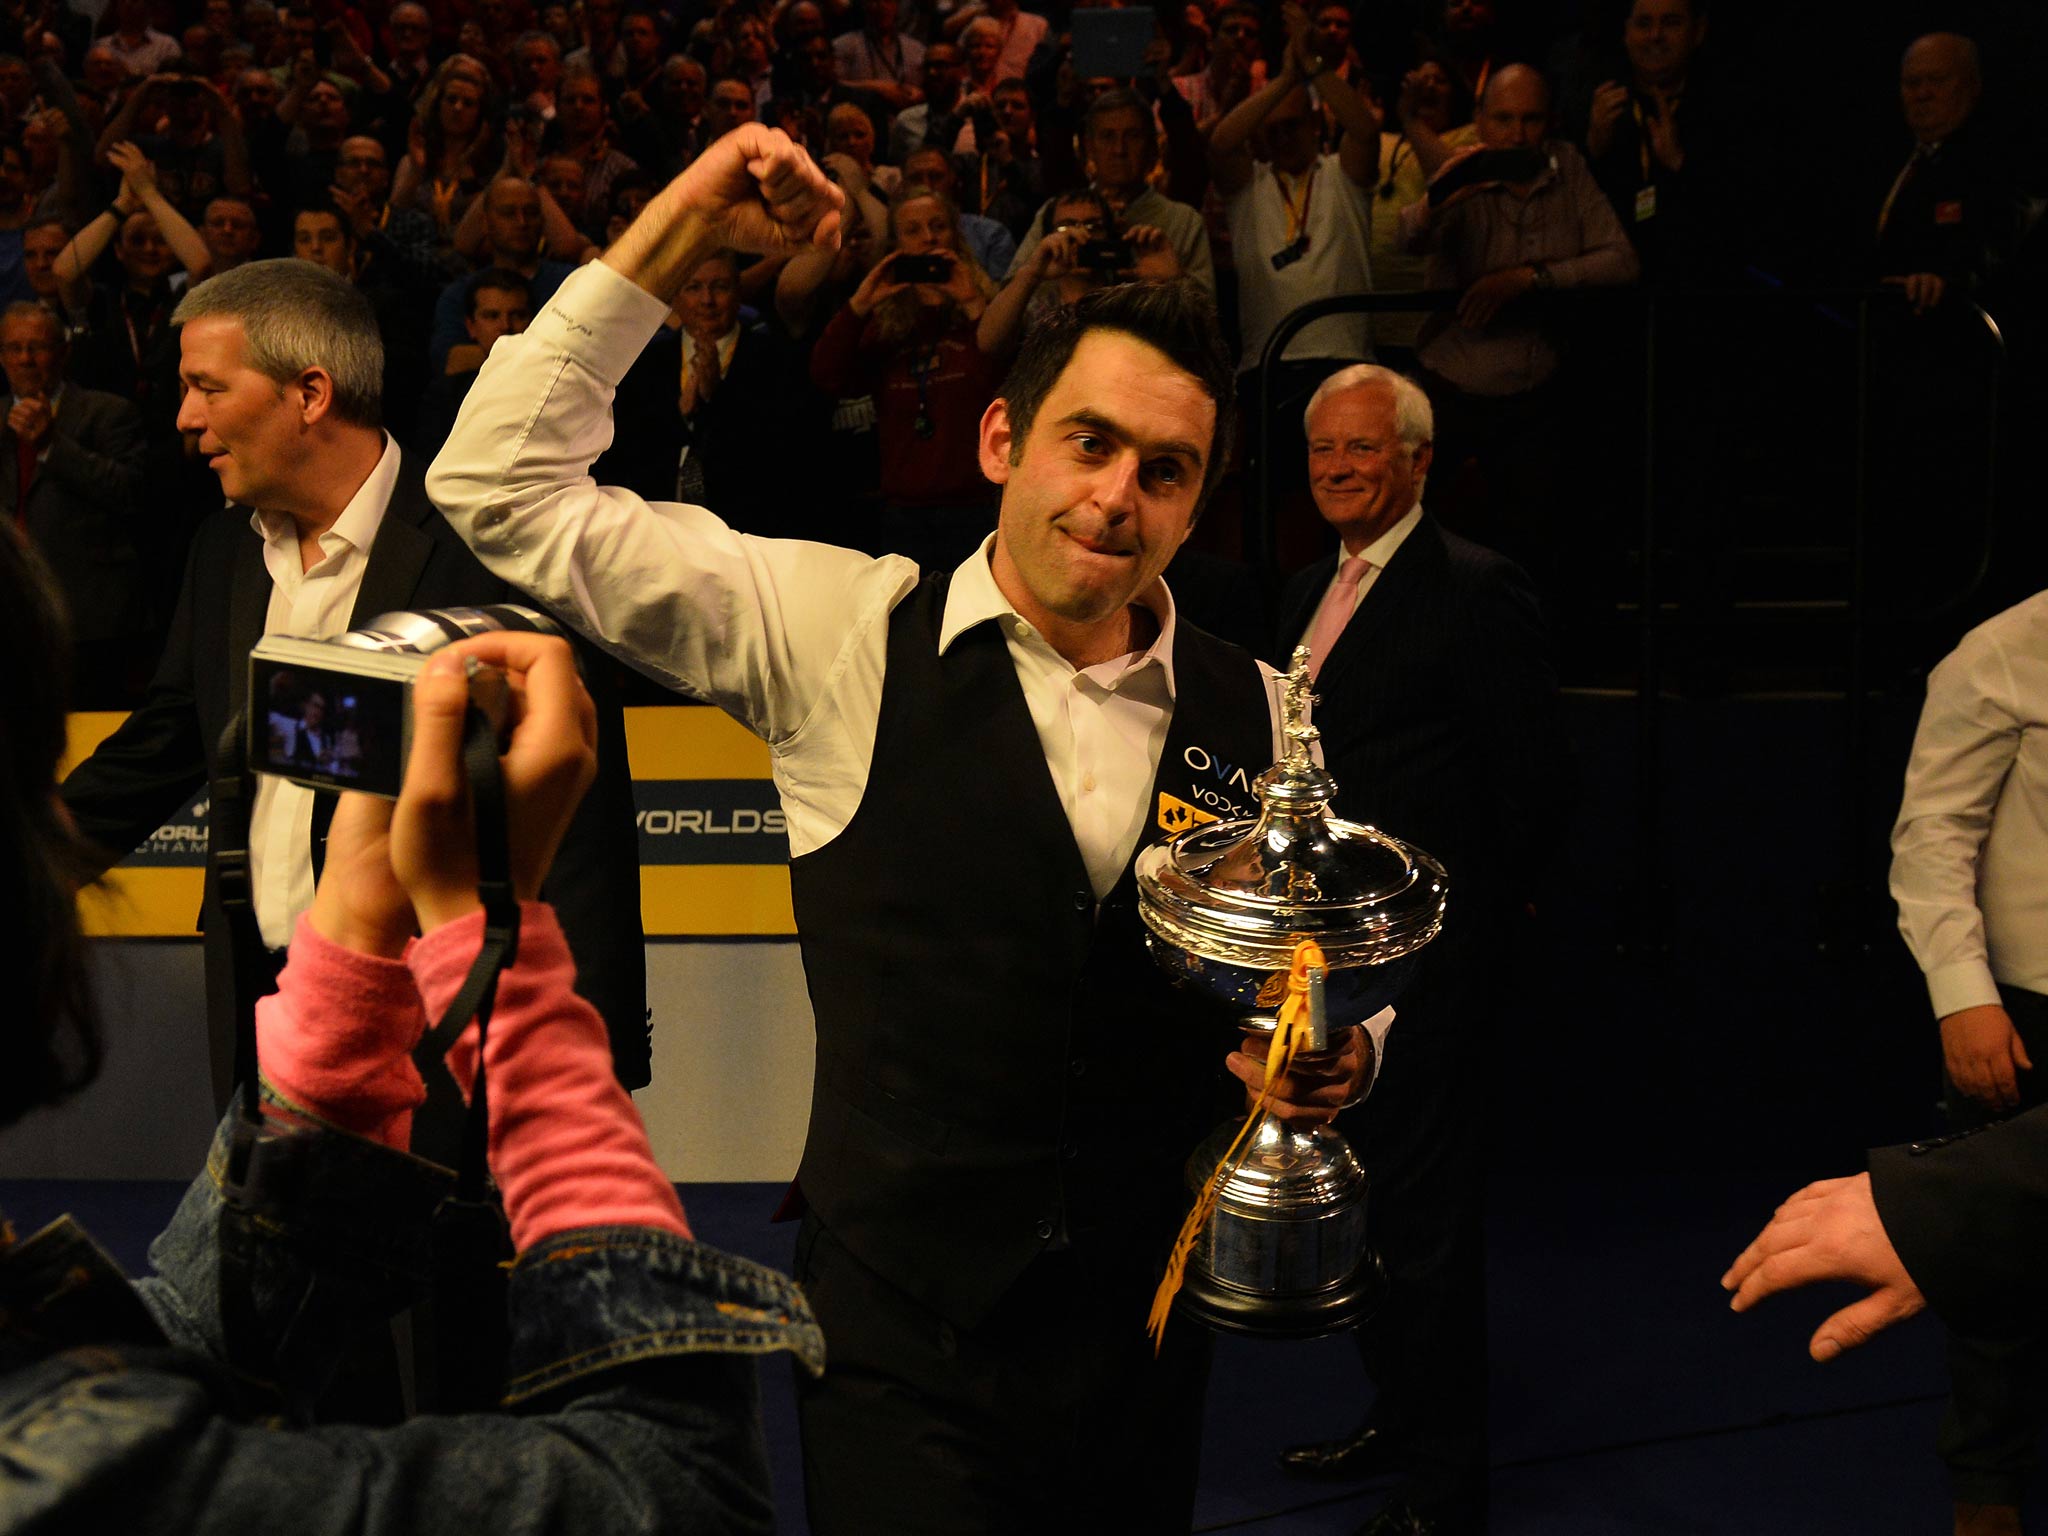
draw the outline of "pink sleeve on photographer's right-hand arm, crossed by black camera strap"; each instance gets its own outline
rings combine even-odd
[[[436,928],[408,952],[436,1020],[461,991],[483,946],[483,913]],[[485,1047],[492,1085],[492,1174],[526,1251],[578,1227],[690,1225],[653,1161],[647,1128],[612,1073],[604,1020],[571,991],[575,965],[553,907],[520,905],[518,965],[498,979]],[[449,1051],[449,1071],[469,1092],[477,1071],[471,1024]]]

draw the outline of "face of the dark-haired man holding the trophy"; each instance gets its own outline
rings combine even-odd
[[[1114,618],[1188,537],[1217,401],[1157,348],[1090,332],[1024,442],[1004,401],[981,422],[981,473],[1004,487],[995,580],[1044,629]]]

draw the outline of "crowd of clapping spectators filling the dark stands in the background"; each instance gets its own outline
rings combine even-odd
[[[1505,0],[1194,0],[1157,6],[1139,55],[1075,25],[1079,2],[113,0],[92,23],[6,0],[0,305],[57,322],[53,369],[27,342],[6,356],[14,516],[76,606],[131,594],[90,637],[82,702],[147,676],[217,506],[176,426],[186,287],[285,254],[350,279],[383,332],[385,426],[428,459],[492,342],[743,121],[829,168],[844,244],[707,262],[618,385],[602,479],[948,565],[993,526],[975,426],[1034,313],[1188,279],[1276,420],[1343,362],[1421,377],[1440,508],[1477,508],[1464,526],[1542,578],[1583,410],[1571,352],[1597,334],[1546,295],[1726,285],[1757,254],[1755,123],[1706,4],[1610,0],[1567,27]],[[1896,283],[1901,311],[2013,283],[2030,205],[1978,96],[1968,39],[1913,43],[1905,131],[1870,125],[1896,156],[1833,281]],[[1520,180],[1466,164],[1518,150]],[[1413,289],[1456,297],[1333,315],[1260,379],[1298,305]],[[68,403],[100,395],[119,420]],[[84,459],[55,449],[74,422],[96,430]],[[1282,481],[1294,457],[1274,455]],[[1255,555],[1239,508],[1227,487],[1208,549]]]

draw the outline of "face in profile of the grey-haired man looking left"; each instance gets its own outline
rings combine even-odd
[[[250,367],[242,322],[207,315],[178,338],[178,430],[199,434],[221,492],[244,506],[279,506],[305,453],[305,395]]]

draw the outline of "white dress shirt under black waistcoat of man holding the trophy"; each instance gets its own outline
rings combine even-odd
[[[793,858],[829,844],[866,793],[889,612],[918,586],[901,555],[735,532],[700,506],[590,479],[608,406],[668,307],[604,262],[567,279],[524,336],[492,348],[428,471],[428,496],[477,557],[596,645],[705,698],[768,743]],[[1047,768],[1098,897],[1143,831],[1174,717],[1174,600],[1141,653],[1073,668],[995,586],[989,547],[952,575],[940,651],[1001,627]],[[1262,666],[1280,752],[1280,680]],[[1384,1040],[1393,1010],[1368,1022]],[[1378,1057],[1374,1059],[1374,1073]]]

